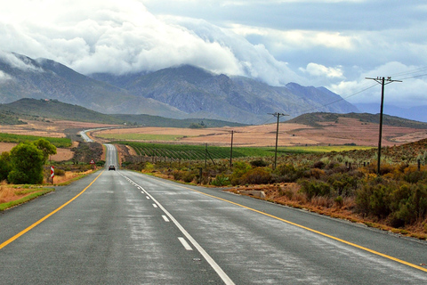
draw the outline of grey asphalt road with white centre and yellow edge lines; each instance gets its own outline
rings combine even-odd
[[[0,214],[0,261],[2,284],[427,284],[423,241],[125,170]]]

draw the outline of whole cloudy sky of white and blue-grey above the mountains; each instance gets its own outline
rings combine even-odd
[[[186,63],[326,86],[350,102],[379,102],[381,85],[365,77],[391,77],[403,82],[386,86],[386,103],[407,107],[427,105],[426,31],[421,0],[13,0],[0,9],[3,52],[84,74]]]

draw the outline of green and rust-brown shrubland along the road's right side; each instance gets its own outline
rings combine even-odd
[[[427,237],[427,141],[386,148],[377,175],[375,151],[286,154],[273,169],[270,158],[157,162],[142,171],[184,183],[266,191],[267,199],[310,208],[366,224],[383,224],[395,232]],[[405,150],[408,151],[405,151]],[[416,165],[420,159],[421,166]],[[367,162],[362,162],[367,161]],[[202,176],[200,176],[202,168]],[[139,169],[141,170],[141,169]],[[340,214],[341,213],[341,214]]]

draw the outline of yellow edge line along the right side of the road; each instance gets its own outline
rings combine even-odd
[[[165,182],[165,183],[166,183],[166,182]],[[168,184],[172,184],[172,183],[168,183]],[[173,184],[173,185],[175,185],[175,184]],[[248,210],[254,211],[254,212],[259,213],[259,214],[262,214],[262,215],[264,215],[264,216],[270,216],[270,217],[272,217],[272,218],[274,218],[274,219],[277,219],[277,220],[279,220],[279,221],[282,221],[282,222],[284,222],[284,223],[286,223],[286,224],[292,224],[292,225],[297,226],[297,227],[299,227],[299,228],[302,228],[302,229],[304,229],[304,230],[307,230],[307,231],[310,231],[310,232],[315,232],[315,233],[317,233],[317,234],[319,234],[319,235],[322,235],[322,236],[324,236],[324,237],[326,237],[326,238],[329,238],[329,239],[332,239],[332,240],[340,241],[340,242],[342,242],[342,243],[344,243],[344,244],[347,244],[347,245],[349,245],[349,246],[351,246],[351,247],[359,248],[359,249],[365,250],[365,251],[370,252],[370,253],[372,253],[372,254],[375,254],[375,255],[377,255],[377,256],[383,256],[384,258],[391,259],[391,260],[393,260],[393,261],[395,261],[395,262],[398,262],[399,264],[407,265],[407,266],[413,267],[413,268],[415,268],[415,269],[418,269],[418,270],[421,270],[421,271],[423,271],[423,272],[427,273],[427,268],[424,268],[424,267],[422,267],[422,266],[414,265],[414,264],[411,264],[411,263],[409,263],[409,262],[407,262],[407,261],[405,261],[405,260],[401,260],[401,259],[396,258],[396,257],[393,257],[393,256],[385,255],[385,254],[383,254],[383,253],[381,253],[381,252],[375,251],[375,250],[370,249],[370,248],[365,248],[365,247],[359,246],[358,244],[352,243],[352,242],[347,241],[347,240],[342,240],[342,239],[336,238],[336,237],[334,237],[334,236],[332,236],[332,235],[329,235],[329,234],[327,234],[327,233],[325,233],[325,232],[318,232],[318,231],[313,230],[313,229],[311,229],[311,228],[309,228],[309,227],[303,226],[302,224],[295,224],[295,223],[293,223],[293,222],[290,222],[290,221],[287,221],[287,220],[285,220],[285,219],[282,219],[282,218],[280,218],[280,217],[278,217],[278,216],[272,216],[272,215],[270,215],[270,214],[264,213],[264,212],[259,211],[259,210],[257,210],[257,209],[249,208],[249,207],[246,207],[246,206],[244,206],[244,205],[241,205],[241,204],[235,203],[235,202],[233,202],[233,201],[230,201],[230,200],[228,200],[228,199],[222,199],[222,198],[219,198],[219,197],[216,197],[216,196],[210,195],[210,194],[206,194],[206,193],[204,193],[204,192],[202,192],[202,191],[197,191],[197,190],[191,189],[191,188],[189,188],[189,187],[185,187],[185,186],[181,186],[181,185],[176,185],[176,186],[179,186],[179,187],[184,188],[184,189],[189,189],[190,191],[195,191],[195,192],[197,192],[197,193],[203,194],[203,195],[208,196],[208,197],[212,197],[212,198],[214,198],[214,199],[221,199],[221,200],[222,200],[222,201],[224,201],[224,202],[228,202],[228,203],[230,203],[230,204],[236,205],[236,206],[241,207],[241,208],[246,208],[246,209],[248,209]]]

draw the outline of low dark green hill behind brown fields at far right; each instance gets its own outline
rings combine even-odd
[[[361,123],[380,123],[380,114],[369,113],[349,113],[349,114],[334,114],[334,113],[310,113],[304,114],[297,118],[290,119],[286,123],[296,123],[307,126],[320,127],[320,122],[334,122],[339,118],[356,118]],[[383,115],[383,125],[385,126],[402,126],[418,129],[427,129],[427,123],[410,120],[407,118],[399,118],[389,115]]]

